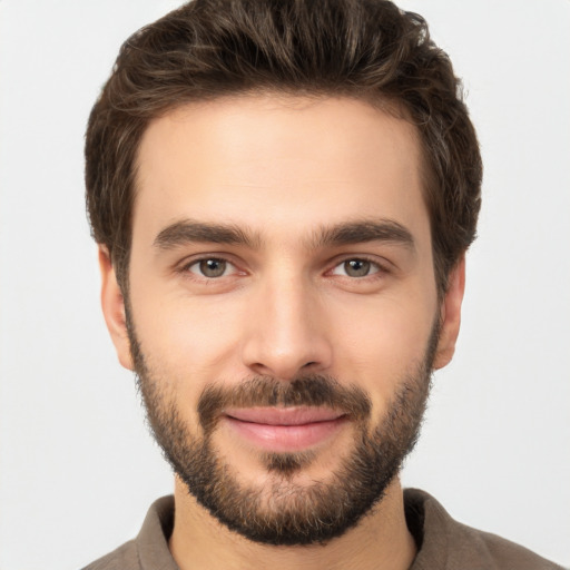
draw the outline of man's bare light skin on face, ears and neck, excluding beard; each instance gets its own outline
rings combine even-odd
[[[194,220],[233,225],[249,243],[157,236]],[[394,223],[399,239],[315,240],[323,228]],[[436,318],[434,367],[449,363],[460,327],[464,262],[438,301],[417,136],[409,122],[347,98],[239,96],[193,104],[154,120],[141,140],[129,297],[147,364],[199,430],[196,403],[214,382],[301,372],[362,387],[382,419],[402,377],[422,361]],[[224,258],[207,278],[196,261]],[[367,259],[371,273],[346,274]],[[132,370],[125,306],[100,248],[102,307],[120,363]],[[350,423],[313,448],[295,482],[326,480],[350,450]],[[214,441],[242,480],[273,475],[259,449],[223,426]],[[176,480],[170,549],[186,568],[409,568],[415,544],[400,481],[361,523],[326,546],[271,547],[228,531]],[[191,540],[186,540],[191,537]]]

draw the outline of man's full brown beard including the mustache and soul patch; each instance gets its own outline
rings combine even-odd
[[[373,421],[371,400],[357,385],[343,385],[317,374],[291,382],[256,376],[235,386],[206,387],[197,405],[202,433],[193,433],[183,420],[179,402],[165,387],[168,379],[147,366],[128,311],[127,324],[148,424],[165,459],[202,507],[254,542],[301,546],[342,535],[382,500],[417,441],[431,386],[438,325],[423,360],[400,379],[380,420]],[[268,482],[245,483],[213,442],[227,407],[320,405],[341,411],[354,430],[351,451],[326,480],[308,484],[295,481],[295,474],[318,455],[308,450],[262,453]]]

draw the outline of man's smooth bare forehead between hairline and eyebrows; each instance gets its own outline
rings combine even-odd
[[[415,128],[360,100],[190,104],[151,121],[142,137],[134,244],[183,218],[281,239],[347,218],[425,226],[420,164]]]

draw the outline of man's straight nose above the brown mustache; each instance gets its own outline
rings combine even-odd
[[[308,283],[276,276],[259,283],[248,306],[243,362],[255,374],[289,381],[332,364],[323,298]]]

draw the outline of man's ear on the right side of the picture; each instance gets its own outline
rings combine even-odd
[[[455,352],[461,325],[461,303],[465,292],[465,256],[462,256],[448,279],[448,291],[441,304],[441,330],[433,368],[446,366]]]

